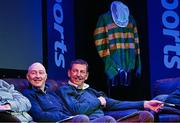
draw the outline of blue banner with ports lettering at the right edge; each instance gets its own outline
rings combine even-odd
[[[180,76],[179,0],[148,0],[151,92],[155,80]]]

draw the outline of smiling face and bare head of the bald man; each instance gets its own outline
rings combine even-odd
[[[34,87],[44,88],[47,79],[44,66],[40,63],[32,64],[28,69],[27,79]]]

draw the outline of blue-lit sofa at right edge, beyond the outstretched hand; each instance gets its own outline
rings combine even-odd
[[[164,101],[168,94],[180,86],[180,77],[156,80],[153,87],[154,99]],[[165,106],[161,113],[157,114],[159,122],[180,122],[179,110]]]

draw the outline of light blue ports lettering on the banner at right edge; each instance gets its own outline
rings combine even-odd
[[[161,0],[162,6],[166,9],[162,14],[163,23],[163,35],[171,37],[171,42],[174,45],[167,44],[164,46],[164,65],[171,69],[176,66],[180,69],[180,31],[178,31],[179,26],[179,15],[175,11],[178,7],[178,0],[173,0],[168,2],[168,0]],[[169,38],[168,38],[169,39]]]

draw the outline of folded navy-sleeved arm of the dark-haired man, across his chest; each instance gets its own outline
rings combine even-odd
[[[73,112],[74,115],[88,115],[94,112],[96,109],[99,109],[101,106],[99,99],[95,95],[91,95],[88,92],[77,92],[74,87],[69,85],[61,87],[58,94],[63,98],[67,108]]]

